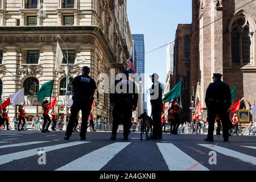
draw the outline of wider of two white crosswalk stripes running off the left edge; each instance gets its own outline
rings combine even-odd
[[[28,158],[30,156],[38,155],[39,151],[42,150],[44,152],[49,152],[53,150],[58,150],[60,148],[65,148],[65,147],[72,147],[72,146],[77,146],[79,144],[84,144],[88,142],[70,142],[70,143],[63,143],[63,144],[57,144],[54,146],[48,146],[48,147],[40,147],[40,148],[34,148],[31,150],[26,150],[26,151],[21,151],[21,152],[15,152],[12,154],[6,154],[6,155],[1,155],[0,156],[0,165],[12,162],[13,160],[18,160],[18,159],[24,159]]]

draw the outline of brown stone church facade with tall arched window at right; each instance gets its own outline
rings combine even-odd
[[[221,73],[231,90],[238,83],[234,102],[241,99],[241,107],[246,109],[254,104],[256,2],[249,2],[192,0],[190,87],[196,88],[193,99],[196,105],[201,101],[204,121],[205,93],[213,73]]]

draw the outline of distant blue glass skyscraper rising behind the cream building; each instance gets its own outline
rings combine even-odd
[[[134,40],[134,47],[137,53],[135,59],[135,72],[141,75],[145,73],[145,47],[144,47],[144,35],[143,34],[131,34],[131,37]],[[142,78],[142,84],[144,87],[144,77]],[[147,109],[147,94],[144,94],[143,101],[144,101],[144,109]]]

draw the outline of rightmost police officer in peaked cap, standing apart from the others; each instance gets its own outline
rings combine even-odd
[[[214,121],[216,115],[222,122],[224,142],[229,141],[228,135],[228,109],[231,105],[231,92],[229,85],[221,81],[221,74],[213,74],[213,83],[209,84],[205,96],[205,104],[208,107],[207,121],[209,123],[206,141],[213,142]]]

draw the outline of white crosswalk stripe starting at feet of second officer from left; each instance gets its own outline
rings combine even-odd
[[[131,142],[116,142],[99,148],[98,150],[90,152],[63,167],[56,169],[56,171],[99,171],[114,158],[118,152],[130,143]]]

